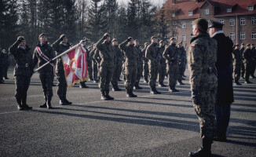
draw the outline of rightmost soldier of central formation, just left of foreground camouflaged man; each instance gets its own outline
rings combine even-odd
[[[185,57],[184,55],[186,55],[185,49],[182,46],[182,42],[177,44],[177,49],[178,49],[178,53],[179,53],[179,62],[178,62],[178,75],[177,75],[177,84],[178,85],[185,85],[181,80],[182,80],[182,75],[184,74],[184,68],[185,68]]]

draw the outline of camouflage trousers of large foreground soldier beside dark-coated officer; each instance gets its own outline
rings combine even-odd
[[[199,118],[200,137],[213,139],[216,131],[216,103],[218,79],[211,75],[207,80],[201,80],[199,86],[199,104],[193,104]]]

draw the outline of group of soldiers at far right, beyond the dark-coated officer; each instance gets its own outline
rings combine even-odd
[[[241,85],[239,82],[240,76],[245,80],[245,83],[251,83],[249,77],[255,79],[254,71],[256,67],[256,49],[254,44],[244,43],[233,46],[233,77],[236,85]]]

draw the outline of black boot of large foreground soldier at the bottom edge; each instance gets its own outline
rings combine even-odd
[[[198,151],[196,152],[189,152],[189,156],[190,157],[210,157],[212,156],[211,155],[211,144],[213,143],[212,140],[209,140],[207,138],[203,138],[203,141],[202,141],[202,147],[199,148]]]

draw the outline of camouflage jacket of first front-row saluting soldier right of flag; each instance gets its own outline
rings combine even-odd
[[[101,64],[100,66],[109,66],[115,68],[116,53],[111,42],[104,42],[104,38],[101,38],[96,43],[97,49],[99,49]]]

